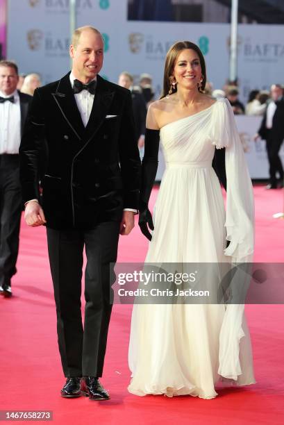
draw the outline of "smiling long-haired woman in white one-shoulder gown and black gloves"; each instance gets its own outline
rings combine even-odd
[[[164,93],[147,115],[140,227],[148,236],[147,224],[153,226],[147,202],[159,137],[166,170],[145,263],[251,260],[251,179],[231,106],[226,99],[214,101],[203,94],[205,83],[206,67],[199,47],[191,42],[174,44],[165,62]],[[226,213],[212,169],[215,148],[226,149]],[[228,247],[226,240],[230,241]],[[190,394],[212,399],[217,396],[215,383],[219,380],[255,383],[244,306],[135,304],[129,365],[128,391],[140,396]]]

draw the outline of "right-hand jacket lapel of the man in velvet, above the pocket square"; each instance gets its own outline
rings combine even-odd
[[[99,75],[97,76],[97,88],[94,94],[94,103],[92,106],[91,115],[85,128],[84,138],[90,140],[96,133],[110,108],[115,92],[108,88],[108,84]]]

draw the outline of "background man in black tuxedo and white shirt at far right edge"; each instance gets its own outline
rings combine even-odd
[[[284,139],[284,97],[280,84],[272,85],[271,97],[272,100],[267,104],[265,115],[254,138],[257,140],[261,137],[266,140],[269,161],[269,184],[266,188],[276,189],[277,185],[283,188],[284,180],[283,165],[278,155]],[[279,175],[278,182],[276,173]]]

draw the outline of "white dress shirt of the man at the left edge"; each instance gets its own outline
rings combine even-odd
[[[1,97],[14,96],[14,103],[6,101],[0,103],[0,155],[2,153],[19,153],[21,142],[21,108],[19,106],[19,93],[4,94]]]

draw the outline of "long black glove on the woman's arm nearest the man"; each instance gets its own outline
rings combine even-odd
[[[139,197],[139,226],[144,236],[151,240],[149,228],[153,231],[153,219],[148,203],[158,169],[158,153],[160,130],[146,128],[144,142],[144,157],[142,159],[141,186]],[[148,228],[149,227],[149,228]]]

